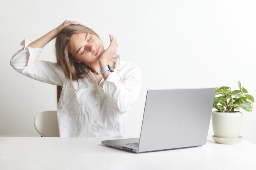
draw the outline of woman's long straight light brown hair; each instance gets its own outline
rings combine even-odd
[[[83,62],[76,63],[74,57],[69,52],[68,46],[75,33],[90,33],[99,37],[91,28],[80,24],[68,25],[62,29],[56,36],[55,53],[57,64],[61,66],[65,77],[70,79],[71,87],[72,81],[78,81],[79,78],[88,77],[89,68]],[[57,101],[61,95],[61,86],[57,86]],[[73,88],[74,89],[74,88]],[[75,89],[76,90],[76,89]],[[79,89],[77,89],[79,90]]]

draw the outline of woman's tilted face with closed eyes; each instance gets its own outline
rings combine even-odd
[[[102,41],[90,33],[75,33],[69,44],[69,52],[77,63],[93,63],[104,52]]]

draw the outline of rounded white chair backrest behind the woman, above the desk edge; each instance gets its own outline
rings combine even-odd
[[[34,118],[36,131],[43,137],[60,137],[57,111],[43,111]]]

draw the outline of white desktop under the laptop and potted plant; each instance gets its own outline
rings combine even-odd
[[[195,148],[129,153],[101,139],[0,137],[0,170],[256,170],[256,145],[207,144]]]

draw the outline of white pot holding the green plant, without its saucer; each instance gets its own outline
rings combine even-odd
[[[213,125],[214,137],[238,139],[242,118],[242,112],[223,113],[219,111],[213,111],[211,115],[211,121]]]

